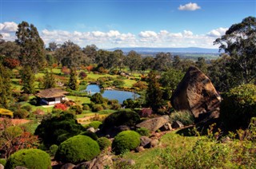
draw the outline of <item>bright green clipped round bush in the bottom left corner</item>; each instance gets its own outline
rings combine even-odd
[[[39,149],[22,149],[10,155],[5,168],[15,168],[18,166],[38,169],[51,168],[50,155],[46,151]]]

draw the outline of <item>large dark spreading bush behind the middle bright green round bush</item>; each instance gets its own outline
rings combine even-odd
[[[50,119],[42,120],[41,124],[35,130],[35,135],[38,135],[46,146],[50,146],[52,144],[58,144],[58,136],[63,134],[74,136],[82,131],[85,131],[85,128],[81,124],[78,124],[74,115],[62,113]]]

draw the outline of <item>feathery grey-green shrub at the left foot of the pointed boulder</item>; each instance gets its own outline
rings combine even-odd
[[[194,116],[189,111],[172,112],[170,114],[170,121],[174,122],[176,120],[182,122],[185,126],[194,124]]]

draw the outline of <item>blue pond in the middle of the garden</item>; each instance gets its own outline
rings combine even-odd
[[[96,92],[101,92],[101,89],[98,87],[98,85],[87,85],[86,92],[89,92],[91,95],[93,95]],[[122,104],[124,100],[129,98],[134,99],[134,96],[136,98],[139,97],[139,95],[135,94],[134,92],[120,90],[104,90],[102,96],[109,100],[118,100],[119,104]]]

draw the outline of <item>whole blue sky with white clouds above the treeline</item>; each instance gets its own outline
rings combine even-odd
[[[45,44],[81,47],[202,47],[232,24],[256,16],[256,0],[0,0],[0,31],[14,41],[22,21],[34,24]]]

